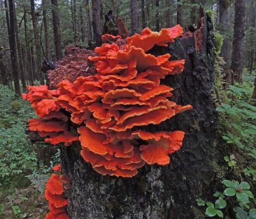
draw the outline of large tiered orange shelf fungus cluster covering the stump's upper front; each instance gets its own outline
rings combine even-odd
[[[151,133],[145,126],[192,108],[170,101],[173,89],[160,84],[166,75],[183,72],[185,61],[169,61],[170,54],[155,56],[149,51],[154,45],[173,43],[182,32],[176,25],[160,32],[146,28],[126,40],[103,36],[111,42],[89,56],[95,75],[60,81],[56,90],[28,87],[23,98],[39,117],[29,121],[29,129],[51,144],[68,146],[79,140],[83,159],[103,175],[131,177],[145,163],[169,164],[169,154],[179,150],[185,133]]]

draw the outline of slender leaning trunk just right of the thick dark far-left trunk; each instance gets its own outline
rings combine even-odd
[[[22,88],[23,88],[23,90],[26,90],[24,63],[23,63],[23,59],[22,59],[21,43],[19,41],[19,30],[18,30],[18,22],[17,22],[17,17],[16,17],[15,4],[14,4],[14,28],[15,28],[15,38],[16,38],[17,49],[18,49],[19,70],[21,73]]]

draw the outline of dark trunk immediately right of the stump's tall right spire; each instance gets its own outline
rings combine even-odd
[[[223,57],[223,60],[226,62],[224,69],[230,66],[230,39],[227,37],[227,30],[230,28],[229,23],[230,19],[228,16],[228,7],[230,2],[227,0],[219,0],[219,31],[223,33],[224,40],[221,48],[220,55]]]

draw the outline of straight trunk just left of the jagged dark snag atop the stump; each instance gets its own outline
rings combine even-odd
[[[96,46],[102,43],[102,32],[100,31],[100,0],[92,0],[92,28]]]

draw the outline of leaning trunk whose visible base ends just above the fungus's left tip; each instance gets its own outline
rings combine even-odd
[[[44,77],[41,72],[41,46],[40,46],[40,40],[39,40],[39,34],[37,30],[37,18],[35,13],[35,2],[34,0],[30,0],[31,4],[31,17],[32,17],[32,24],[33,24],[33,32],[35,37],[35,45],[36,45],[36,63],[37,63],[37,71],[38,71],[38,77],[41,84],[44,84]]]

